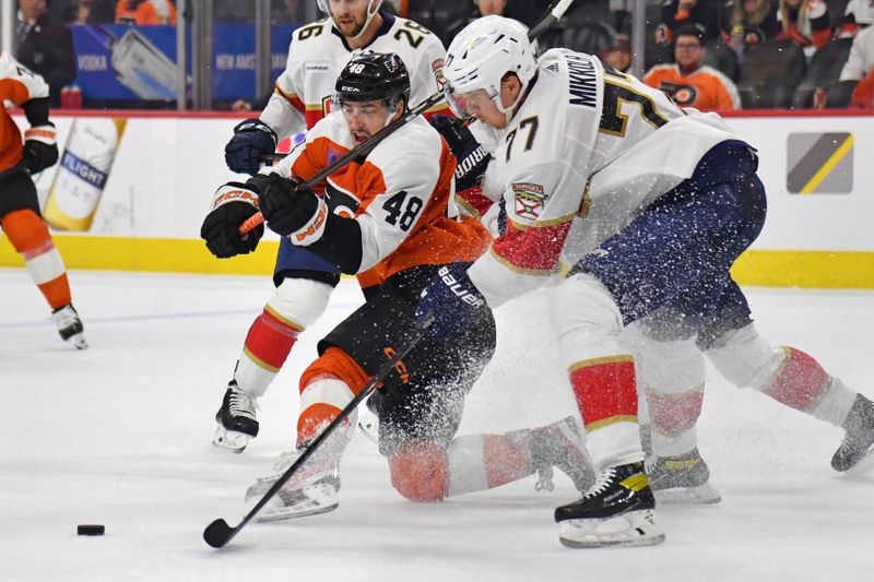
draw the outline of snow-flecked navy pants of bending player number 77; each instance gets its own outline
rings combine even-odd
[[[765,223],[765,187],[744,142],[711,149],[683,181],[571,270],[597,276],[626,324],[656,313],[702,348],[751,321],[729,269]],[[659,312],[659,313],[657,313]]]

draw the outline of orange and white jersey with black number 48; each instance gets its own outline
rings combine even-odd
[[[321,119],[306,141],[262,173],[309,179],[353,147],[342,111]],[[332,174],[323,188],[334,214],[354,217],[362,233],[362,287],[424,264],[473,262],[492,237],[454,205],[456,158],[430,124],[415,118],[364,159]],[[322,188],[319,188],[322,190]]]

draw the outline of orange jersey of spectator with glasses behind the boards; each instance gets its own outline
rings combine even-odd
[[[643,83],[665,92],[681,107],[701,111],[741,108],[737,87],[722,72],[707,64],[684,75],[676,64],[657,64],[643,75]]]

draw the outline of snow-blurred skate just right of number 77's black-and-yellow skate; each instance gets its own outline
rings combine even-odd
[[[696,447],[680,456],[647,459],[649,486],[659,503],[706,506],[722,501],[710,485],[710,470]]]

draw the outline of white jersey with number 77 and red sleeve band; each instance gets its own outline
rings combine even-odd
[[[506,230],[469,271],[496,308],[572,264],[736,136],[589,55],[547,51],[485,176]]]

